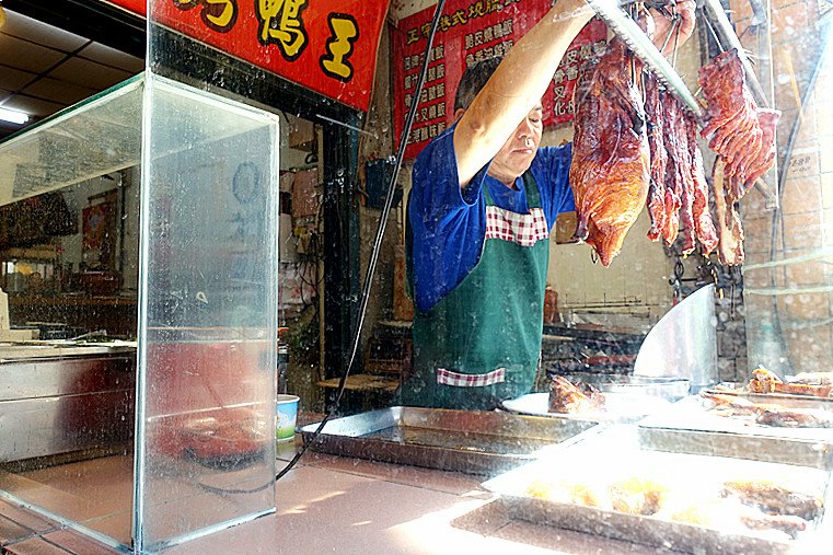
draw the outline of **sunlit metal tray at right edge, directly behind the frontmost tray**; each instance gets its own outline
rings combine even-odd
[[[811,400],[783,400],[783,406],[824,408]],[[731,416],[711,414],[697,396],[670,411],[639,421],[639,441],[649,449],[680,453],[733,456],[756,461],[833,470],[833,429],[778,428]]]

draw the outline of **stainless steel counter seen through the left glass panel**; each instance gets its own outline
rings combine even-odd
[[[135,389],[129,347],[0,346],[0,463],[124,444]]]

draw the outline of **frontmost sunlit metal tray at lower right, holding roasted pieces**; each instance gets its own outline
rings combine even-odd
[[[692,492],[692,499],[705,499],[704,492],[715,490],[715,485],[724,479],[743,477],[768,477],[773,475],[797,478],[809,490],[824,498],[825,507],[831,502],[829,473],[818,469],[797,467],[774,463],[702,456],[681,453],[666,453],[644,449],[638,446],[633,426],[612,426],[600,433],[588,437],[587,441],[575,442],[558,451],[548,460],[539,460],[509,471],[485,482],[486,489],[499,494],[509,517],[536,524],[554,525],[583,533],[613,537],[628,542],[662,547],[686,553],[794,553],[818,542],[829,542],[831,525],[824,514],[809,523],[797,540],[786,535],[761,535],[738,529],[718,530],[698,524],[666,520],[659,516],[639,516],[618,512],[610,507],[590,507],[565,501],[566,490],[554,486],[552,499],[533,497],[530,488],[541,476],[549,476],[555,483],[599,483],[606,487],[609,482],[621,476],[639,475],[645,478],[676,481],[685,492]],[[615,453],[615,456],[611,456]],[[557,469],[554,472],[553,469]],[[613,476],[613,477],[612,477]],[[675,485],[675,486],[676,486]],[[566,486],[565,486],[566,487]],[[560,497],[560,498],[559,498]],[[678,497],[679,498],[679,497]],[[822,553],[823,550],[807,553]],[[802,552],[803,553],[803,552]]]

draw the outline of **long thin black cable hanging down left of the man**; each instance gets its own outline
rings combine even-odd
[[[359,348],[359,339],[361,338],[361,329],[365,324],[365,315],[368,308],[368,301],[370,300],[370,291],[373,285],[373,276],[375,275],[375,268],[377,264],[379,262],[379,251],[382,246],[382,240],[384,239],[384,231],[387,227],[387,217],[391,213],[391,207],[393,205],[393,195],[394,190],[396,188],[396,181],[400,176],[400,170],[402,169],[402,160],[405,155],[405,147],[408,143],[408,137],[410,136],[410,128],[414,125],[414,119],[416,117],[416,111],[417,106],[419,105],[419,97],[423,93],[423,85],[425,84],[425,79],[428,73],[428,60],[429,55],[431,53],[431,48],[433,47],[433,37],[437,34],[437,28],[439,27],[440,23],[440,16],[442,15],[442,10],[446,5],[446,0],[439,0],[437,3],[437,8],[433,12],[433,20],[431,21],[431,30],[428,33],[427,37],[427,44],[425,47],[425,55],[423,58],[423,67],[419,72],[419,80],[416,84],[416,90],[414,91],[413,101],[410,103],[410,108],[408,109],[408,115],[405,119],[405,127],[402,130],[402,135],[400,137],[400,148],[396,153],[396,165],[393,170],[393,174],[391,175],[391,181],[387,183],[387,194],[384,199],[384,207],[382,208],[382,213],[379,218],[379,228],[377,229],[377,236],[375,241],[373,242],[373,248],[370,255],[370,262],[368,263],[368,269],[365,275],[365,286],[362,287],[361,291],[361,302],[359,304],[359,311],[357,314],[357,322],[354,329],[354,336],[352,336],[352,346],[350,350],[350,359],[347,366],[345,367],[345,371],[342,374],[342,378],[338,382],[338,389],[336,390],[336,396],[331,405],[329,409],[327,411],[327,414],[324,415],[324,419],[319,424],[319,427],[315,428],[315,431],[312,432],[312,436],[303,442],[303,446],[301,449],[296,453],[296,455],[292,458],[291,461],[275,476],[275,479],[280,479],[282,476],[285,476],[292,467],[298,463],[298,461],[303,456],[303,454],[306,452],[306,450],[312,446],[312,443],[315,442],[315,440],[321,435],[321,431],[324,429],[324,426],[329,421],[329,419],[333,417],[333,414],[335,413],[336,407],[338,406],[338,403],[342,401],[342,396],[344,395],[345,386],[347,385],[347,377],[350,374],[350,369],[352,368],[352,365],[356,362],[356,352]]]

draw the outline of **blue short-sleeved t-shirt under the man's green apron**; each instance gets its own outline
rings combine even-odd
[[[414,302],[428,312],[474,269],[486,236],[486,197],[500,208],[527,213],[527,193],[518,177],[511,189],[487,175],[488,164],[460,188],[453,141],[454,127],[423,149],[414,163],[408,220],[410,279]],[[537,150],[530,171],[537,184],[549,230],[562,212],[576,209],[569,187],[571,144]]]

